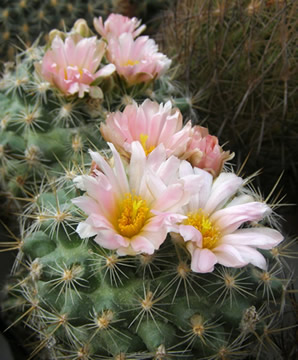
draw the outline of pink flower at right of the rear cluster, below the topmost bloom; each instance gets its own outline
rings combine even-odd
[[[107,58],[129,85],[159,78],[171,65],[171,60],[158,52],[153,39],[140,36],[134,40],[131,33],[109,40]]]

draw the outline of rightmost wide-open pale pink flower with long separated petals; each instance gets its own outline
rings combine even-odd
[[[183,206],[185,218],[172,230],[184,239],[192,256],[192,270],[211,272],[216,263],[228,267],[251,263],[265,269],[266,260],[256,248],[271,249],[283,236],[260,224],[256,227],[248,224],[263,219],[270,208],[251,195],[235,195],[243,179],[233,173],[221,173],[213,181],[211,174],[189,164],[185,175],[190,174],[200,176],[198,192]]]

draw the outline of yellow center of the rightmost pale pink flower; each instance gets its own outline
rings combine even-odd
[[[212,224],[202,209],[199,209],[198,212],[189,212],[184,224],[191,225],[199,230],[203,238],[203,248],[213,249],[218,243],[220,231]]]

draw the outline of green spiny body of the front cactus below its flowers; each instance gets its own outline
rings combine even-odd
[[[64,183],[32,199],[30,226],[15,243],[3,308],[10,326],[38,334],[30,359],[294,358],[293,323],[283,324],[287,244],[264,252],[266,271],[196,274],[170,236],[154,255],[119,257],[75,234],[76,192]]]

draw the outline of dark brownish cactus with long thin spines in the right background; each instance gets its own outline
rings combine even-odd
[[[264,168],[264,191],[284,169],[295,203],[297,10],[296,1],[179,0],[159,29],[201,121],[239,163],[250,153],[249,172]]]

